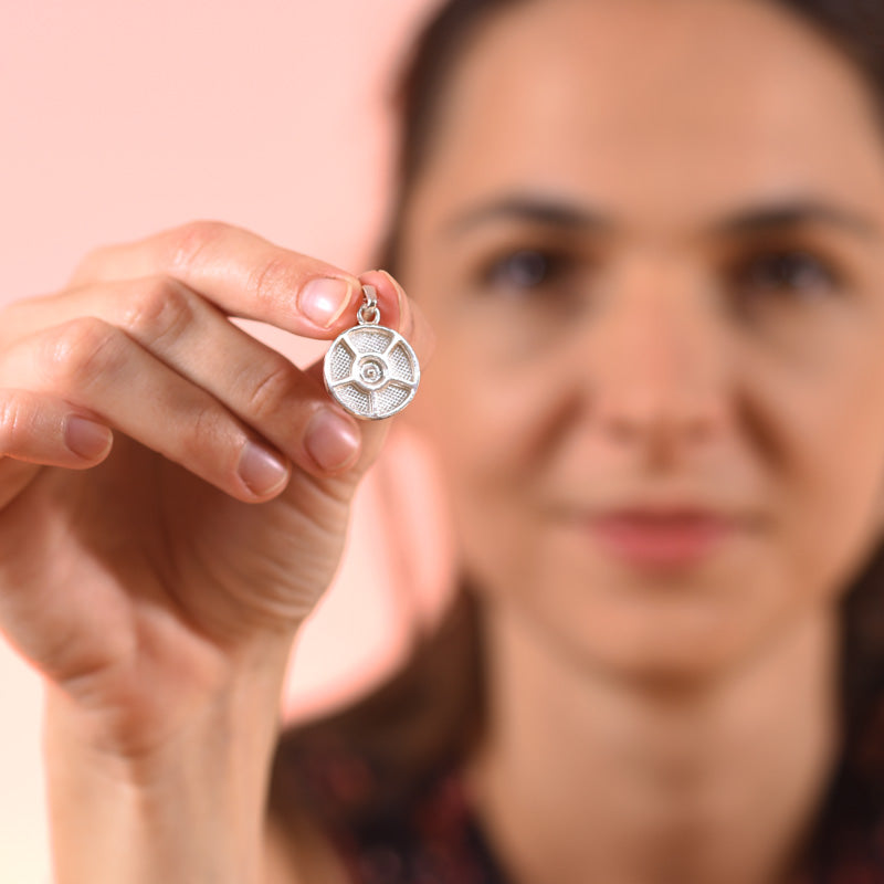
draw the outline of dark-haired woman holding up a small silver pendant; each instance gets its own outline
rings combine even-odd
[[[49,676],[59,882],[884,880],[882,24],[452,0],[385,254],[420,312],[220,224],[6,312],[0,617]],[[435,332],[407,413],[469,588],[283,740],[267,821],[386,427],[225,316],[330,339],[359,283]]]

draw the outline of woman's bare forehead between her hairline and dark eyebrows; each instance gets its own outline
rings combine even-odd
[[[442,203],[525,186],[686,214],[884,198],[871,90],[761,0],[517,6],[467,51],[440,123],[424,179]]]

